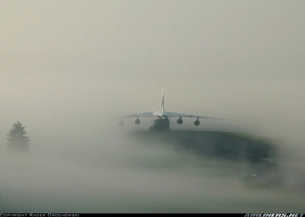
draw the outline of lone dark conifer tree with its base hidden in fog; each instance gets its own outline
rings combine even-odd
[[[17,121],[13,124],[13,128],[6,134],[7,146],[10,151],[27,152],[30,147],[30,139],[26,136],[27,132],[24,130],[22,123]]]

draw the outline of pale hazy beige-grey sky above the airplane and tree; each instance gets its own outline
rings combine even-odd
[[[164,86],[166,110],[300,134],[304,6],[1,1],[1,130],[155,111]]]

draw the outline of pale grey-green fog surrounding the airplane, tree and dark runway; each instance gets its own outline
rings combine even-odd
[[[1,212],[303,212],[304,6],[2,1]],[[277,141],[283,189],[245,184],[243,163],[133,134],[147,118],[117,126],[159,109],[162,87],[167,111],[230,119],[173,118],[173,130]],[[6,151],[17,120],[25,156]]]

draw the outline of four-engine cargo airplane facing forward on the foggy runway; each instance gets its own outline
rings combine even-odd
[[[194,121],[194,125],[198,126],[200,124],[199,118],[205,119],[218,119],[206,116],[199,116],[199,115],[191,115],[191,114],[183,114],[183,113],[176,113],[176,112],[165,112],[164,111],[164,87],[162,89],[162,100],[161,100],[161,109],[157,112],[144,112],[144,113],[136,113],[131,115],[125,115],[120,117],[119,125],[123,126],[124,121],[122,118],[131,118],[137,117],[135,119],[135,124],[140,123],[139,117],[152,117],[152,126],[149,128],[149,131],[170,131],[170,120],[169,117],[179,117],[177,119],[178,124],[182,124],[183,120],[182,117],[189,117],[189,118],[196,118]]]

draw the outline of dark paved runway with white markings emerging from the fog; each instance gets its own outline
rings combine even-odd
[[[225,167],[245,183],[263,187],[293,190],[286,186],[287,165],[279,158],[276,144],[251,141],[220,132],[171,131],[171,133],[133,132],[137,138],[153,137],[173,144],[181,153],[200,156],[209,165]],[[152,139],[152,138],[149,138]],[[217,163],[216,163],[217,162]],[[290,168],[294,170],[295,168]],[[299,173],[295,171],[295,173]],[[299,181],[303,188],[303,182]]]

